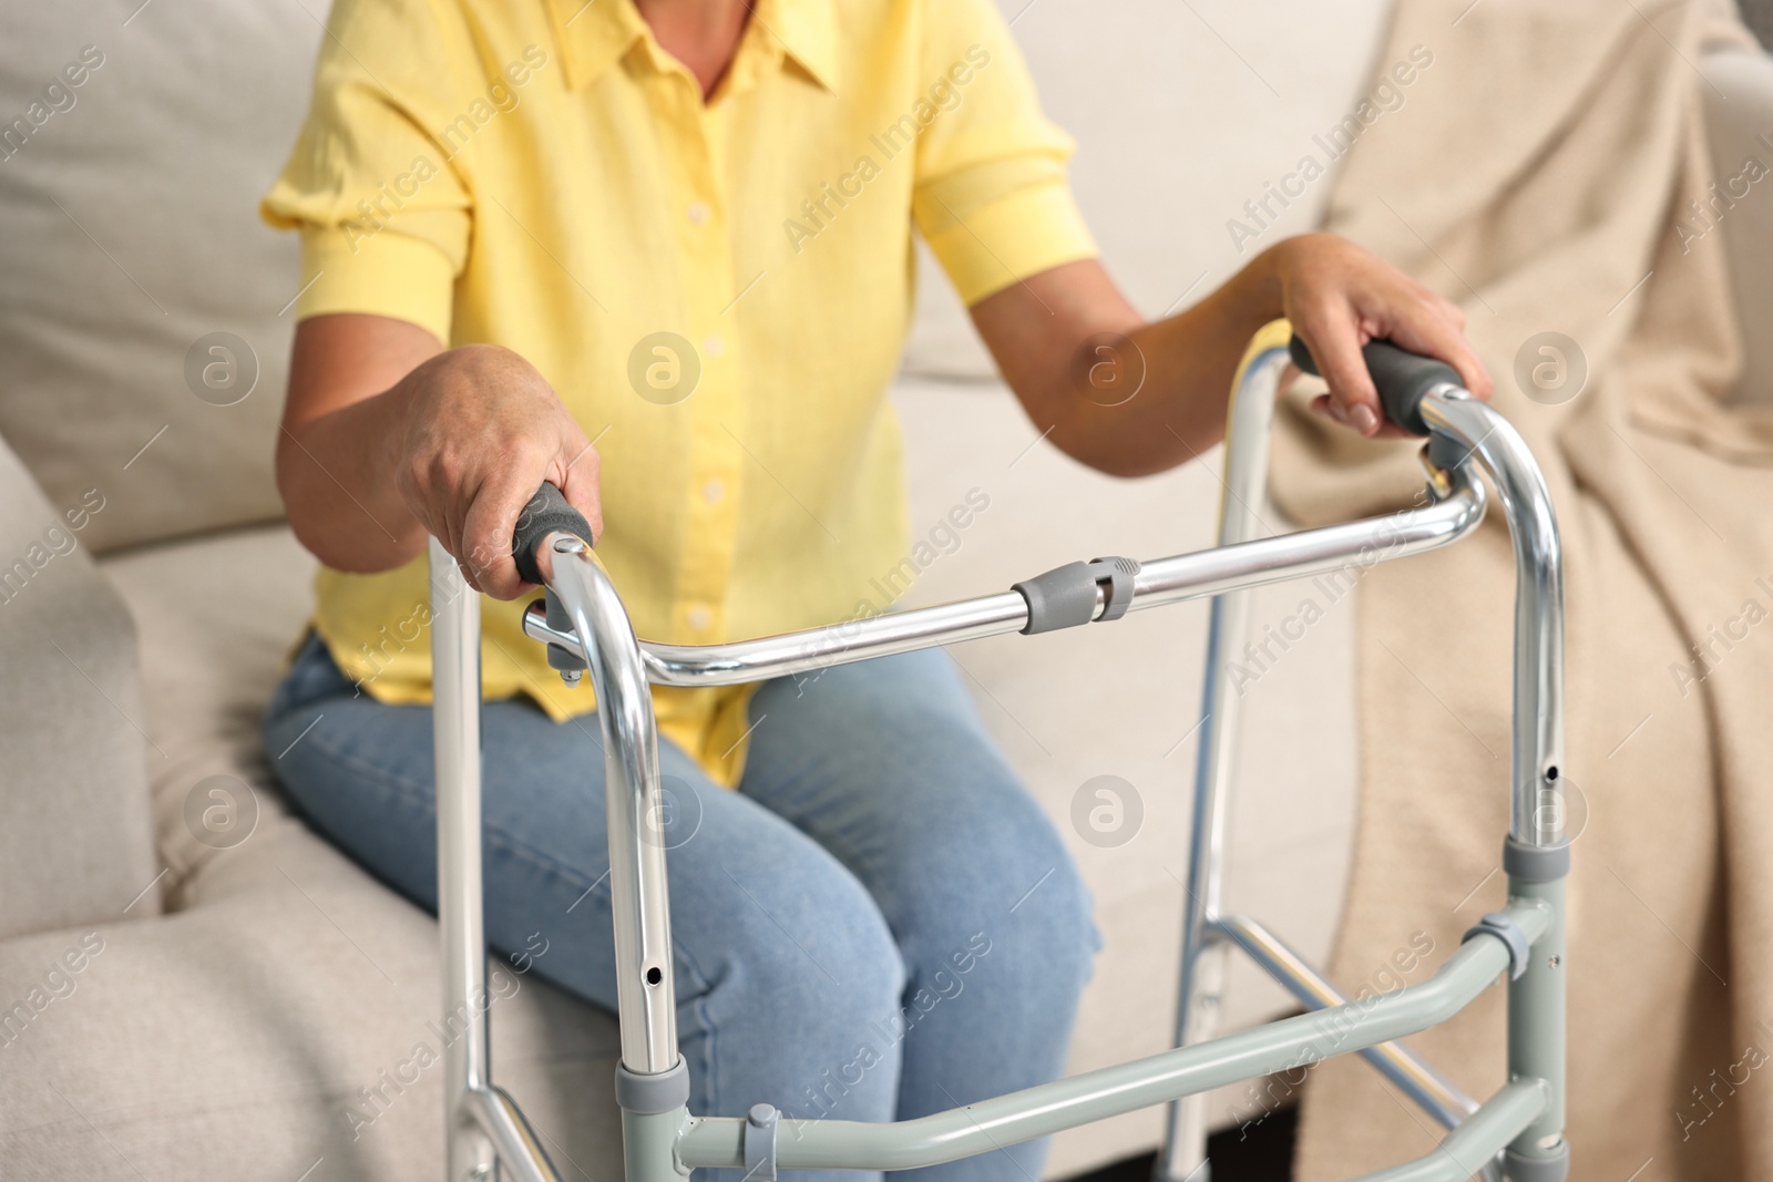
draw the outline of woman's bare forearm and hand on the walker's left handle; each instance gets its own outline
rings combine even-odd
[[[277,484],[328,567],[392,571],[429,533],[470,585],[516,599],[528,585],[511,535],[544,480],[603,532],[596,450],[511,349],[445,349],[417,324],[356,312],[296,326]]]

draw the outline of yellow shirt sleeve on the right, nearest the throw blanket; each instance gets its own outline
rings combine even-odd
[[[1071,136],[1041,113],[996,4],[940,0],[927,21],[934,115],[918,138],[911,213],[961,299],[1094,257],[1066,175]]]

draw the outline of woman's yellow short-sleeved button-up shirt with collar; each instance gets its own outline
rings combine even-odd
[[[528,358],[601,454],[635,629],[711,643],[888,606],[913,223],[968,303],[1087,257],[1069,149],[991,0],[757,0],[707,103],[633,0],[339,0],[262,211],[303,234],[300,315]],[[429,700],[424,558],[317,595],[349,677]],[[484,695],[594,709],[521,611],[484,603]],[[727,785],[745,702],[654,689]]]

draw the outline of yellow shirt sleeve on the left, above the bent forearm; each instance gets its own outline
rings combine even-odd
[[[369,312],[449,344],[472,198],[440,138],[461,110],[441,19],[426,0],[333,5],[307,122],[261,202],[301,232],[298,319]]]

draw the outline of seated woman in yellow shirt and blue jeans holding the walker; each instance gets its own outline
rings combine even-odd
[[[1145,323],[1067,152],[991,0],[339,0],[264,200],[303,237],[277,471],[324,567],[264,730],[307,819],[434,906],[436,535],[495,601],[488,934],[613,1007],[596,702],[521,634],[518,512],[560,486],[647,638],[885,608],[913,230],[1035,429],[1103,471],[1209,448],[1282,314],[1363,434],[1369,337],[1484,390],[1457,310],[1324,236]],[[654,705],[691,1111],[895,1120],[1058,1076],[1089,895],[941,652]],[[1032,1178],[1043,1152],[920,1173]]]

